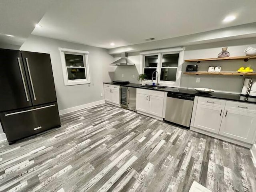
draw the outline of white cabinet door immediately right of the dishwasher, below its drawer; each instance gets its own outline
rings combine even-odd
[[[194,127],[218,133],[224,108],[197,104]]]

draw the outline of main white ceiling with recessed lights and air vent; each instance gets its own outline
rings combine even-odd
[[[0,24],[9,30],[1,26],[0,33],[25,36],[31,28],[23,28],[23,23],[36,22],[36,13],[42,12],[40,4],[50,4],[44,1],[4,0]],[[224,24],[222,20],[229,15],[237,19]],[[144,43],[151,37],[161,40],[252,22],[256,22],[256,0],[54,0],[39,22],[43,28],[35,28],[32,34],[114,48]]]

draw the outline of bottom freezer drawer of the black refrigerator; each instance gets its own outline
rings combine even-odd
[[[9,143],[60,126],[56,102],[4,112],[0,118]]]

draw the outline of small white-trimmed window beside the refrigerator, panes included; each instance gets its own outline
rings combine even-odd
[[[64,85],[90,83],[88,51],[59,48]]]

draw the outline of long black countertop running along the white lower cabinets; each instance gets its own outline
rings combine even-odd
[[[104,82],[104,83],[105,84],[114,84],[113,82]],[[136,83],[129,83],[126,85],[121,85],[121,84],[115,83],[114,85],[153,90],[151,88],[143,87],[144,85],[142,85],[142,84],[136,84]],[[206,93],[199,93],[194,89],[175,88],[175,87],[168,87],[168,88],[157,90],[157,91],[192,94],[192,95],[201,96],[201,97],[210,97],[210,98],[215,98],[215,99],[225,99],[225,100],[231,100],[231,101],[239,101],[239,102],[256,104],[256,98],[249,97],[249,96],[241,96],[240,94],[232,94],[232,93],[224,93],[224,92],[212,92],[210,94],[209,93],[206,94]]]

